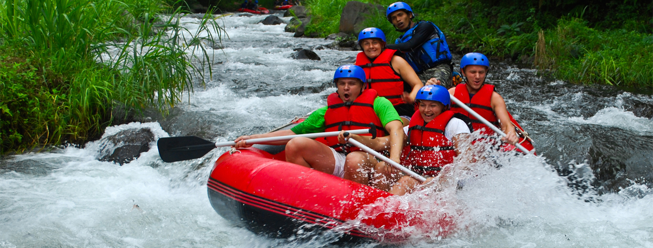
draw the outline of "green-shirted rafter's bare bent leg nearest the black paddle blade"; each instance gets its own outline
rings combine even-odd
[[[310,138],[293,138],[286,144],[286,161],[333,174],[336,159],[331,148]]]

